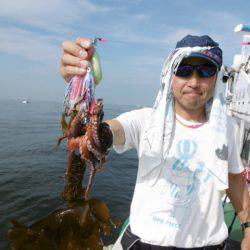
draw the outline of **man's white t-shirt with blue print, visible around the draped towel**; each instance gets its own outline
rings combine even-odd
[[[150,112],[150,108],[144,108],[116,118],[124,128],[126,140],[124,145],[114,146],[116,152],[131,148],[139,151]],[[243,166],[236,141],[238,125],[231,117],[228,123],[229,172],[240,173]],[[138,174],[129,220],[132,233],[141,241],[190,248],[220,244],[227,238],[221,193],[206,167],[209,162],[203,161],[208,152],[203,140],[206,136],[208,124],[192,129],[177,121],[172,146],[159,166],[161,173],[155,185],[147,182],[154,171],[142,178]]]

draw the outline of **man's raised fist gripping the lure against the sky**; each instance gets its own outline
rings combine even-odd
[[[94,53],[94,47],[88,38],[77,38],[75,42],[64,41],[60,73],[67,83],[74,75],[84,75]]]

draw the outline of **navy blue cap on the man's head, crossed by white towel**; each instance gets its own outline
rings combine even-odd
[[[201,52],[193,52],[188,57],[204,58],[214,64],[217,68],[221,68],[222,65],[222,50],[219,44],[216,43],[211,37],[205,36],[191,36],[187,35],[183,39],[177,42],[176,49],[183,47],[212,47],[209,50]]]

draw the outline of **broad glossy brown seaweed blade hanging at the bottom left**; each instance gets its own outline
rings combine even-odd
[[[7,234],[12,250],[102,249],[101,234],[112,231],[108,207],[97,198],[57,209],[28,227],[12,225]]]

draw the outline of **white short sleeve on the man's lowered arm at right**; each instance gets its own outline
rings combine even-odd
[[[244,171],[240,157],[240,143],[238,142],[239,125],[233,117],[228,117],[228,172],[239,174]]]

